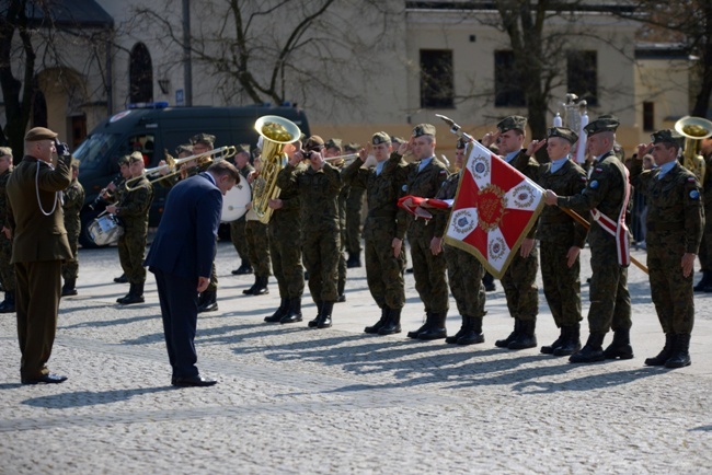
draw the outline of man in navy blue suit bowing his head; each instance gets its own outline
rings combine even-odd
[[[174,386],[210,386],[195,367],[198,292],[210,282],[222,195],[240,179],[226,160],[181,181],[168,195],[146,266],[156,276]]]

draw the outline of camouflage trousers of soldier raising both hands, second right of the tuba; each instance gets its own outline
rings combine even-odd
[[[309,291],[314,302],[335,302],[338,298],[338,228],[303,233],[301,252],[309,271]]]

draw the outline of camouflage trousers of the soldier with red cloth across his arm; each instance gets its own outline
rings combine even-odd
[[[433,255],[432,238],[427,233],[418,238],[410,235],[407,240],[411,244],[415,290],[425,305],[425,312],[447,313],[450,305],[444,253]]]

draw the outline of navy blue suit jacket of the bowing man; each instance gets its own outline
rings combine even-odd
[[[210,277],[222,193],[207,173],[177,183],[168,195],[145,265],[186,279]]]

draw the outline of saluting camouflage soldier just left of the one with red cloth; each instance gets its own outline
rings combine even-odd
[[[381,315],[364,332],[391,335],[401,332],[401,311],[405,304],[403,236],[406,221],[398,220],[398,198],[406,167],[400,154],[392,154],[393,160],[388,160],[393,150],[388,134],[374,134],[371,147],[376,166],[367,165],[368,152],[360,150],[359,158],[346,167],[343,177],[352,189],[365,188],[367,193],[366,279]]]

